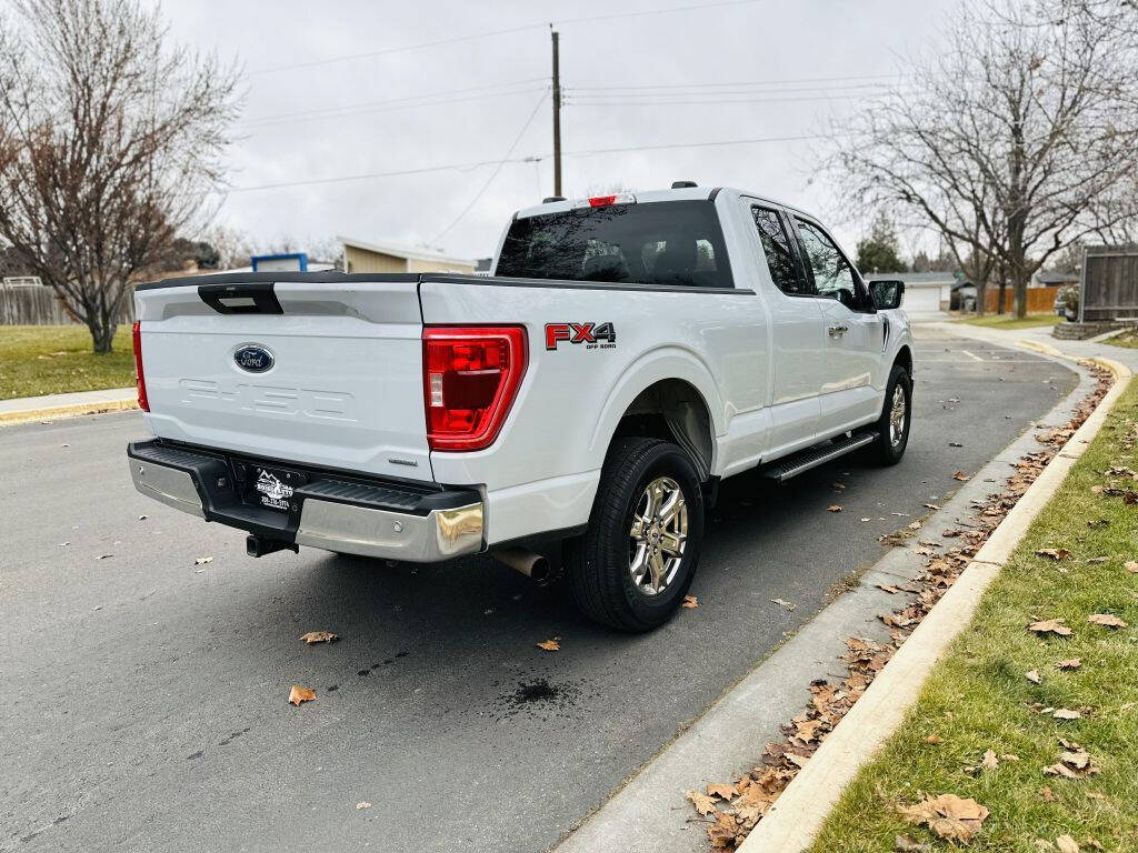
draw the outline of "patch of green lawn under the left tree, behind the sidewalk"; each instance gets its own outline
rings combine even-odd
[[[134,384],[131,328],[114,351],[94,355],[84,325],[0,325],[0,400]]]

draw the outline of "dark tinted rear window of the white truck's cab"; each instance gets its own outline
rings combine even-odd
[[[497,275],[731,288],[710,201],[578,207],[510,226]]]

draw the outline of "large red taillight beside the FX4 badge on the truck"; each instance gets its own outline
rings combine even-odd
[[[423,404],[432,450],[480,450],[502,429],[526,373],[521,326],[423,329]]]

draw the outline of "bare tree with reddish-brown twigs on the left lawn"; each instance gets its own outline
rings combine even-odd
[[[110,350],[132,283],[223,179],[238,74],[135,0],[17,0],[0,22],[0,240]]]

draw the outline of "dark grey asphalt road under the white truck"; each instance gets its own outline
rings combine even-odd
[[[133,413],[0,429],[0,850],[546,850],[1074,387],[918,333],[905,461],[726,482],[699,608],[640,637],[487,558],[246,557],[134,492]]]

